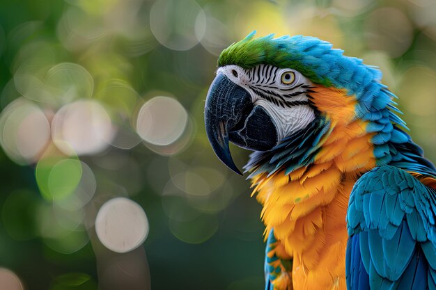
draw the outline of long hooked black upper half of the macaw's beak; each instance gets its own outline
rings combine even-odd
[[[204,120],[206,134],[218,158],[234,172],[242,172],[233,162],[228,147],[228,133],[242,120],[253,104],[247,90],[236,85],[222,73],[217,74],[206,97]]]

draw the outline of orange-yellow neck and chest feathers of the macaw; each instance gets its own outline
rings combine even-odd
[[[345,289],[348,199],[357,178],[375,167],[365,127],[336,124],[311,166],[254,179],[265,232],[274,228],[284,255],[293,257],[295,290]]]

